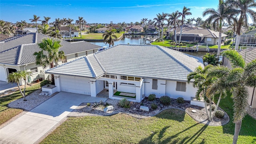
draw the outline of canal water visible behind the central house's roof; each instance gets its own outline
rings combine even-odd
[[[155,39],[157,35],[125,35],[118,41],[114,42],[114,45],[118,44],[150,44],[150,40],[146,40],[147,38]],[[88,41],[90,42],[90,41]],[[98,46],[109,46],[109,44],[104,44],[104,42],[90,42],[92,44],[96,44]],[[200,57],[204,56],[206,53],[214,54],[214,52],[186,52],[181,51],[186,54],[190,54],[192,56]]]

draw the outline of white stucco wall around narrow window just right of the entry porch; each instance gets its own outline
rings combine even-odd
[[[165,94],[165,84],[166,80],[157,80],[157,90],[152,89],[152,79],[145,78],[144,79],[144,94],[146,97],[148,97],[150,94],[155,94],[156,98],[160,98],[161,96],[166,95]]]

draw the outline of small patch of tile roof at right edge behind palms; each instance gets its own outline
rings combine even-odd
[[[248,48],[248,49],[245,49],[245,50],[240,50],[240,51],[238,51],[238,53],[239,53],[243,58],[245,58],[245,62],[246,62],[246,63],[249,63],[249,62],[251,62],[252,60],[255,60],[255,59],[256,59],[256,47],[254,47],[254,48]]]

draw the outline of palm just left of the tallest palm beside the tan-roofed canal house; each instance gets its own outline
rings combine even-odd
[[[178,10],[176,12],[172,12],[172,14],[169,14],[170,18],[168,19],[168,26],[171,24],[174,28],[174,39],[177,43],[177,34],[176,34],[176,28],[179,27],[180,24],[180,20],[178,18],[180,18],[179,12]]]

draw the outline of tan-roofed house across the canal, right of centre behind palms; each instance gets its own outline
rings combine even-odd
[[[180,39],[180,30],[176,32],[177,40]],[[221,34],[221,40],[224,42],[226,40],[226,34]],[[206,28],[192,28],[190,30],[182,29],[181,40],[185,42],[198,42],[206,43],[210,45],[218,44],[219,32],[206,29]],[[172,37],[174,40],[174,36]]]

